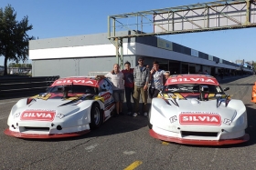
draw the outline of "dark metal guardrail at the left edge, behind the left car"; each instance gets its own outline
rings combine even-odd
[[[57,79],[59,79],[59,75],[0,77],[0,98],[17,95],[37,95],[45,92],[47,87]]]

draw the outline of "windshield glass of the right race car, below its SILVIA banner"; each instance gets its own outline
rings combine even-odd
[[[165,85],[163,93],[200,93],[199,88],[202,85]],[[208,93],[224,93],[223,90],[218,85],[204,86],[208,86]]]

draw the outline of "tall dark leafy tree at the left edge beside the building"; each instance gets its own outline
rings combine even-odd
[[[28,42],[35,39],[27,35],[33,25],[28,25],[28,16],[21,21],[16,21],[16,12],[11,5],[5,6],[5,11],[0,8],[0,55],[5,57],[5,72],[7,75],[7,61],[27,60]]]

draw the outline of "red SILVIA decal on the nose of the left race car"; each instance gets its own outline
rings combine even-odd
[[[55,111],[48,110],[26,110],[20,116],[20,120],[53,121]]]

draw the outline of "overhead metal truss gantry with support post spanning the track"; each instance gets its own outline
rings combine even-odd
[[[256,0],[219,0],[108,16],[108,38],[123,68],[123,38],[175,35],[256,26]],[[120,31],[131,34],[117,35]]]

